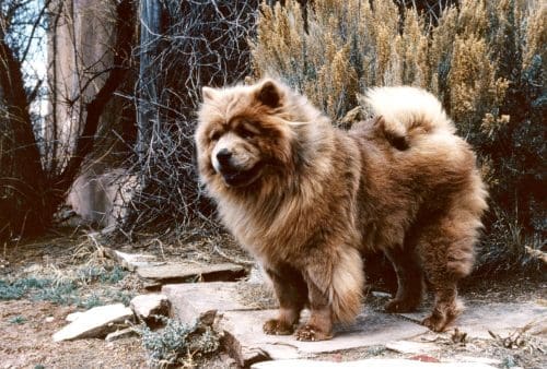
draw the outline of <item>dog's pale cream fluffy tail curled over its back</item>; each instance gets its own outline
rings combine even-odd
[[[441,102],[421,88],[373,87],[364,95],[364,103],[379,117],[386,138],[399,148],[411,145],[417,135],[456,130]]]

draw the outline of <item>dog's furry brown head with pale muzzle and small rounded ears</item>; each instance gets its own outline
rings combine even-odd
[[[251,86],[203,87],[196,144],[201,179],[244,188],[290,167],[294,141],[291,92],[274,80]]]

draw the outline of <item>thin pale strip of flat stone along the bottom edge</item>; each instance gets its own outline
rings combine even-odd
[[[364,359],[357,361],[316,361],[316,360],[276,360],[276,361],[261,361],[253,364],[252,369],[284,369],[284,368],[299,368],[299,369],[492,369],[496,367],[481,362],[423,362],[418,360],[406,359]]]

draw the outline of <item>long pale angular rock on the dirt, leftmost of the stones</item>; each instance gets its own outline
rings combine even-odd
[[[101,306],[82,312],[67,326],[54,334],[54,341],[104,337],[116,324],[131,320],[133,313],[124,303]]]

